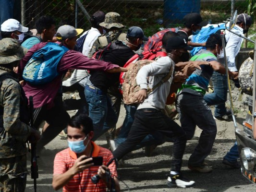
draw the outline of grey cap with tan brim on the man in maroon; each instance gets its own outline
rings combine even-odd
[[[65,39],[70,39],[73,38],[74,36],[80,35],[84,29],[76,29],[71,25],[62,25],[59,27],[57,30],[57,35],[56,38],[58,40],[65,40]]]

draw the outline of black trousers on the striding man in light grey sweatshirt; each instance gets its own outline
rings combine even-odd
[[[154,108],[143,108],[136,111],[131,131],[126,141],[113,152],[114,157],[120,160],[125,154],[131,152],[146,135],[155,131],[161,132],[167,137],[173,137],[171,170],[180,171],[186,147],[185,132],[176,122]]]

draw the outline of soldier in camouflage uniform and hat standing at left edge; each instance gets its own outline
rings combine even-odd
[[[25,143],[31,136],[35,141],[40,137],[27,125],[27,99],[13,72],[24,51],[15,39],[0,40],[0,192],[25,191]]]

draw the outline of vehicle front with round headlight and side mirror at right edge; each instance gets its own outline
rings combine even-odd
[[[237,20],[237,11],[235,11],[234,14],[232,15],[229,31],[236,24],[236,20]],[[246,38],[244,36],[240,36],[240,37]],[[256,42],[252,41],[251,39],[248,39],[248,38],[246,39],[256,44]],[[222,36],[222,42],[223,40],[224,40],[224,36]],[[226,58],[225,48],[223,48],[223,52],[224,52],[224,57]],[[228,70],[227,64],[226,64],[226,70]],[[256,74],[256,46],[254,47],[254,74]],[[228,77],[228,82],[229,82],[229,77]],[[246,177],[248,180],[250,180],[253,183],[256,183],[256,128],[254,129],[254,124],[256,123],[254,122],[255,121],[254,119],[256,117],[256,112],[255,112],[256,111],[255,109],[256,89],[255,88],[256,88],[256,76],[254,76],[253,96],[249,97],[248,99],[249,112],[246,115],[246,118],[243,122],[244,129],[241,130],[237,127],[236,120],[233,114],[232,96],[231,96],[230,84],[229,84],[232,118],[235,126],[235,135],[236,135],[236,141],[237,141],[239,157],[240,157],[241,172],[244,175],[244,177]]]

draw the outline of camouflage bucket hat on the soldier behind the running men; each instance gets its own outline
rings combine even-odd
[[[107,29],[110,29],[111,27],[117,27],[117,28],[124,27],[119,22],[120,22],[120,14],[118,14],[117,12],[108,12],[105,15],[105,21],[100,23],[99,25]]]

